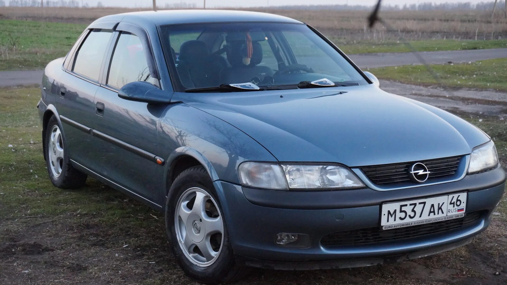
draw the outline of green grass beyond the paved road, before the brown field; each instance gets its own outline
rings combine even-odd
[[[41,69],[65,56],[86,24],[0,20],[0,70]],[[346,41],[331,38],[345,53],[409,52],[399,41]],[[419,40],[410,41],[418,51],[505,48],[507,40]]]

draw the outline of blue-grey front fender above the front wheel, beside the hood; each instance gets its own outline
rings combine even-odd
[[[159,126],[159,156],[165,175],[182,155],[199,161],[212,181],[239,184],[238,165],[246,160],[276,161],[263,146],[231,124],[185,103],[170,105]]]

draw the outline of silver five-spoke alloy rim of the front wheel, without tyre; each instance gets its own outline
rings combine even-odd
[[[213,264],[224,239],[222,215],[213,197],[194,187],[187,189],[176,205],[174,228],[183,253],[197,266]]]

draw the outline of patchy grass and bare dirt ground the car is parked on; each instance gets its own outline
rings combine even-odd
[[[0,89],[0,283],[195,284],[171,256],[160,213],[93,179],[71,191],[51,184],[39,97],[38,88]],[[495,139],[505,165],[506,121],[469,120]],[[505,284],[506,215],[504,198],[476,241],[437,256],[344,270],[255,270],[238,284]]]

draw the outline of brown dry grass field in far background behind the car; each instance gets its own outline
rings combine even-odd
[[[102,16],[142,11],[128,8],[34,8],[3,7],[0,18],[35,21],[90,23]],[[491,20],[483,11],[385,11],[381,17],[392,26],[387,31],[377,24],[367,28],[369,11],[305,11],[248,9],[279,14],[306,22],[329,37],[353,41],[389,41],[400,35],[410,40],[418,39],[476,39],[497,40],[507,38],[507,19],[501,15]]]

